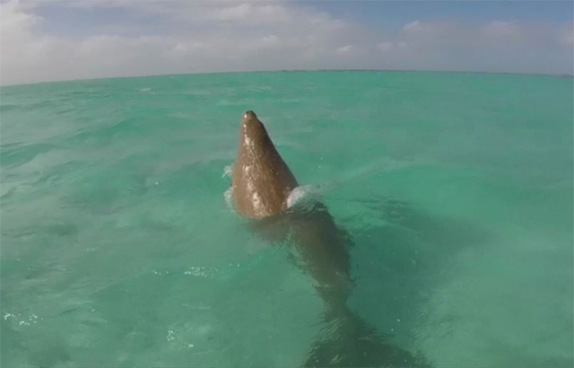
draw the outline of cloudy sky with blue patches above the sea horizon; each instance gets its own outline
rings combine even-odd
[[[0,83],[282,69],[572,74],[564,1],[0,0]]]

